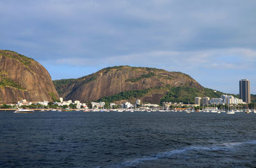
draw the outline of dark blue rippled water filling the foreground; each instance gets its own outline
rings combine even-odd
[[[0,167],[256,167],[256,114],[0,112]]]

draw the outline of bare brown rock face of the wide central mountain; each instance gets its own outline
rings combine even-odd
[[[79,79],[54,80],[54,85],[65,100],[81,100],[82,102],[98,100],[103,96],[112,96],[124,91],[166,86],[169,88],[189,86],[204,90],[198,82],[184,73],[132,66],[104,68]],[[143,100],[159,102],[164,94],[164,91],[152,93]]]

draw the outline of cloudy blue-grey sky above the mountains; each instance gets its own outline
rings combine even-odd
[[[187,73],[206,88],[256,94],[256,1],[0,0],[0,49],[53,80],[129,65]]]

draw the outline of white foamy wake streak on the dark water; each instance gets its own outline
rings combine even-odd
[[[136,166],[142,162],[157,160],[159,158],[169,158],[172,155],[186,153],[188,151],[219,151],[219,150],[230,150],[236,146],[242,146],[244,144],[256,144],[256,141],[248,141],[248,142],[231,142],[224,144],[214,144],[212,146],[189,146],[182,149],[175,149],[172,151],[164,151],[161,153],[147,155],[141,158],[134,158],[131,160],[127,160],[126,162],[122,162],[118,164],[116,167],[124,167],[124,166]]]

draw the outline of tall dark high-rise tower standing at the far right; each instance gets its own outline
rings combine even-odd
[[[239,81],[239,95],[243,102],[251,103],[250,81],[248,79]]]

